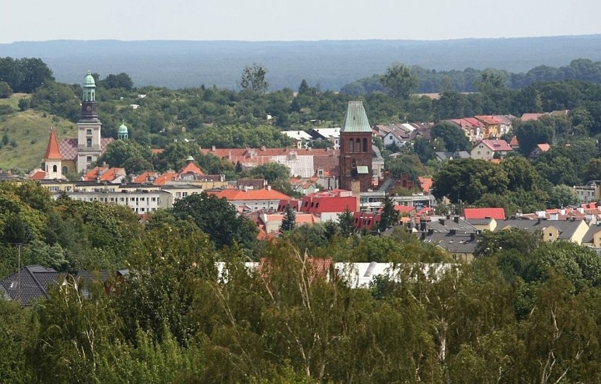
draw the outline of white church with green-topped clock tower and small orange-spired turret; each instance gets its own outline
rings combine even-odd
[[[82,87],[81,117],[77,123],[78,137],[63,138],[57,152],[54,148],[56,133],[51,129],[48,149],[44,156],[46,163],[44,179],[64,179],[66,174],[75,172],[82,174],[98,160],[107,149],[107,145],[114,140],[100,136],[102,123],[98,119],[96,83],[91,71],[87,71]]]

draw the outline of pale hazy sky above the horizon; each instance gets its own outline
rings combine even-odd
[[[0,43],[445,40],[601,33],[599,0],[1,0],[0,10]]]

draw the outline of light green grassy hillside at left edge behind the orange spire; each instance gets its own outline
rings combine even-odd
[[[28,95],[15,94],[9,99],[0,99],[0,104],[10,104],[18,111],[17,103],[21,97]],[[59,141],[77,136],[77,126],[71,121],[44,112],[28,110],[0,116],[0,143],[5,134],[9,139],[9,143],[0,148],[0,169],[29,172],[40,167],[52,126]],[[12,140],[16,141],[16,148],[11,146]]]

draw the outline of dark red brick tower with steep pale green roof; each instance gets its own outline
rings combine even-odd
[[[372,127],[363,102],[348,102],[340,129],[340,188],[353,190],[358,181],[360,191],[372,187]]]

